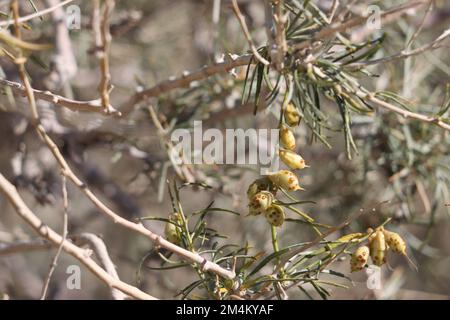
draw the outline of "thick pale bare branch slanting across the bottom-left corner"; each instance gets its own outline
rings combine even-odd
[[[26,203],[20,197],[17,189],[5,179],[0,173],[0,190],[5,195],[6,199],[16,210],[17,214],[31,226],[42,238],[50,241],[53,245],[57,246],[62,243],[63,250],[76,258],[82,264],[84,264],[97,278],[106,283],[110,288],[116,288],[125,294],[136,298],[154,300],[155,297],[133,287],[125,282],[115,279],[108,272],[102,269],[97,263],[95,263],[89,255],[86,254],[86,250],[79,248],[68,240],[64,240],[62,236],[56,233],[53,229],[43,223],[31,210]]]

